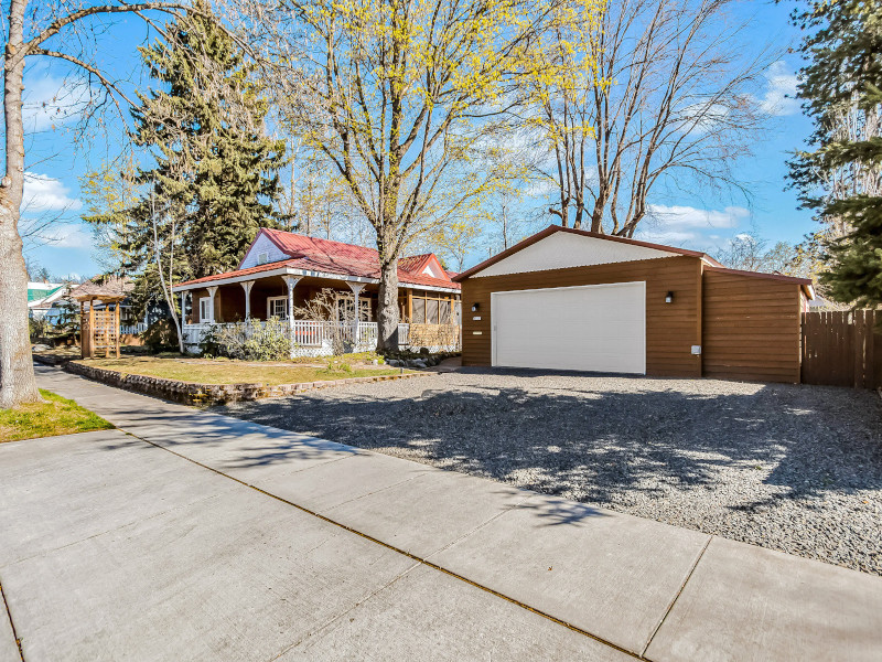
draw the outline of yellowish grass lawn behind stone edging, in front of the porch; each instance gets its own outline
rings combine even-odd
[[[126,359],[95,359],[86,365],[106,367],[129,375],[147,375],[196,384],[298,384],[395,375],[399,369],[388,366],[356,366],[346,361],[329,365],[303,365],[295,362],[249,363],[245,361],[183,359],[181,356],[139,356]]]

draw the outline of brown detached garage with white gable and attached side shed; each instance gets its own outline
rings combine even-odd
[[[799,381],[811,282],[552,225],[454,277],[463,365]]]

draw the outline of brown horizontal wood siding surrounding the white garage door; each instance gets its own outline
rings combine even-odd
[[[691,346],[701,344],[700,260],[687,256],[466,278],[462,282],[463,365],[491,364],[492,292],[641,280],[646,281],[646,373],[700,376],[701,356],[691,354]],[[665,303],[669,291],[674,302]],[[477,312],[472,312],[474,303]]]

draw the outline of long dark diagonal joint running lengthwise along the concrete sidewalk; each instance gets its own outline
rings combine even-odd
[[[250,483],[248,483],[248,482],[246,482],[244,480],[240,480],[240,479],[238,479],[238,478],[236,478],[234,476],[230,476],[228,473],[224,473],[223,471],[220,471],[218,469],[215,469],[215,468],[209,467],[207,465],[203,465],[202,462],[200,462],[197,460],[194,460],[192,458],[186,457],[185,455],[182,455],[180,452],[171,450],[170,448],[166,448],[166,447],[164,447],[164,446],[162,446],[160,444],[155,444],[153,441],[150,441],[149,439],[144,439],[143,437],[139,437],[138,435],[129,433],[129,431],[127,431],[127,430],[125,430],[122,428],[120,428],[120,429],[121,429],[121,431],[126,433],[127,435],[130,435],[131,437],[135,437],[136,439],[140,439],[144,444],[149,444],[150,446],[155,446],[157,448],[160,448],[160,449],[162,449],[162,450],[164,450],[166,452],[170,452],[170,453],[172,453],[174,456],[178,456],[179,458],[184,459],[187,462],[192,462],[192,463],[196,465],[197,467],[202,467],[203,469],[207,469],[208,471],[212,471],[212,472],[214,472],[214,473],[216,473],[218,476],[223,476],[224,478],[226,478],[228,480],[232,480],[232,481],[235,481],[235,482],[239,483],[243,487],[246,487],[246,488],[248,488],[250,490],[255,490],[256,492],[265,494],[266,496],[269,496],[270,499],[275,499],[276,501],[280,501],[281,503],[284,503],[287,505],[293,506],[293,508],[295,508],[295,509],[298,509],[298,510],[300,510],[300,511],[302,511],[302,512],[304,512],[304,513],[306,513],[309,515],[312,515],[313,517],[318,517],[319,520],[322,520],[323,522],[326,522],[329,524],[337,526],[338,528],[342,528],[342,530],[347,531],[349,533],[354,533],[355,535],[358,535],[358,536],[361,536],[361,537],[363,537],[365,540],[368,540],[374,544],[377,544],[377,545],[380,545],[383,547],[386,547],[387,549],[390,549],[391,552],[395,552],[396,554],[400,554],[402,556],[407,556],[408,558],[411,558],[411,559],[416,560],[419,564],[426,565],[427,567],[430,567],[430,568],[432,568],[434,570],[438,570],[440,573],[444,573],[445,575],[449,575],[450,577],[453,577],[454,579],[459,579],[460,581],[464,581],[465,584],[474,586],[475,588],[480,588],[481,590],[483,590],[485,592],[488,592],[488,594],[491,594],[493,596],[496,596],[497,598],[502,598],[503,600],[505,600],[507,602],[510,602],[513,605],[516,605],[517,607],[520,607],[521,609],[526,609],[527,611],[531,611],[533,613],[535,613],[537,616],[540,616],[540,617],[545,618],[546,620],[549,620],[549,621],[551,621],[553,623],[557,623],[558,626],[563,626],[568,630],[572,630],[573,632],[577,632],[579,634],[588,637],[589,639],[593,639],[594,641],[598,641],[598,642],[600,642],[600,643],[602,643],[604,645],[607,645],[607,647],[610,647],[612,649],[615,649],[616,651],[619,651],[621,653],[624,653],[624,654],[626,654],[626,655],[628,655],[631,658],[634,658],[635,660],[644,660],[645,659],[645,658],[643,658],[642,654],[638,654],[638,653],[635,653],[634,651],[630,651],[630,650],[627,650],[625,648],[622,648],[621,645],[619,645],[616,643],[607,641],[606,639],[603,639],[602,637],[599,637],[596,634],[592,634],[591,632],[589,632],[587,630],[583,630],[582,628],[580,628],[578,626],[574,626],[574,624],[572,624],[570,622],[567,622],[567,621],[564,621],[564,620],[562,620],[562,619],[560,619],[560,618],[558,618],[556,616],[552,616],[552,615],[550,615],[550,613],[548,613],[546,611],[542,611],[540,609],[536,609],[535,607],[530,607],[526,602],[521,602],[520,600],[512,598],[512,597],[509,597],[509,596],[507,596],[505,594],[502,594],[502,592],[499,592],[497,590],[494,590],[494,589],[492,589],[492,588],[490,588],[487,586],[484,586],[482,584],[473,581],[473,580],[469,579],[467,577],[464,577],[463,575],[460,575],[458,573],[453,573],[451,570],[448,570],[447,568],[438,565],[438,564],[435,564],[435,563],[433,563],[431,560],[428,560],[427,558],[422,558],[422,557],[420,557],[420,556],[418,556],[416,554],[411,554],[410,552],[407,552],[405,549],[396,547],[395,545],[390,545],[389,543],[386,543],[386,542],[384,542],[384,541],[381,541],[379,538],[376,538],[376,537],[374,537],[372,535],[368,535],[366,533],[362,533],[357,528],[353,528],[352,526],[347,526],[346,524],[343,524],[341,522],[332,520],[331,517],[327,517],[326,515],[323,515],[323,514],[318,513],[318,512],[315,512],[313,510],[310,510],[310,509],[308,509],[305,506],[302,506],[302,505],[300,505],[298,503],[294,503],[293,501],[289,501],[288,499],[283,499],[282,496],[279,496],[279,495],[273,494],[271,492],[267,492],[266,490],[262,490],[262,489],[258,488],[257,485],[252,485],[252,484],[250,484]],[[506,511],[506,512],[508,512],[508,511]],[[706,548],[707,548],[707,545],[706,545]],[[702,554],[703,554],[703,549],[702,549]],[[699,558],[700,558],[700,555],[699,555]],[[698,562],[696,562],[696,563],[698,563]],[[692,569],[695,569],[695,567]],[[691,573],[690,573],[690,576],[691,576]],[[688,577],[687,577],[687,580],[688,580]],[[682,590],[682,588],[680,588],[680,590]],[[675,600],[676,600],[676,598],[675,598]],[[660,623],[659,623],[659,627],[660,627]],[[648,648],[648,644],[647,644],[647,648]]]

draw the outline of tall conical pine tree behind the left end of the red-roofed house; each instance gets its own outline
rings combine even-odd
[[[260,227],[278,226],[273,203],[284,163],[284,142],[263,135],[268,104],[241,50],[204,0],[196,9],[141,49],[162,85],[139,95],[135,138],[155,166],[137,175],[152,191],[128,211],[122,233],[130,259],[143,268],[152,215],[174,216],[175,271],[191,278],[234,269]]]

